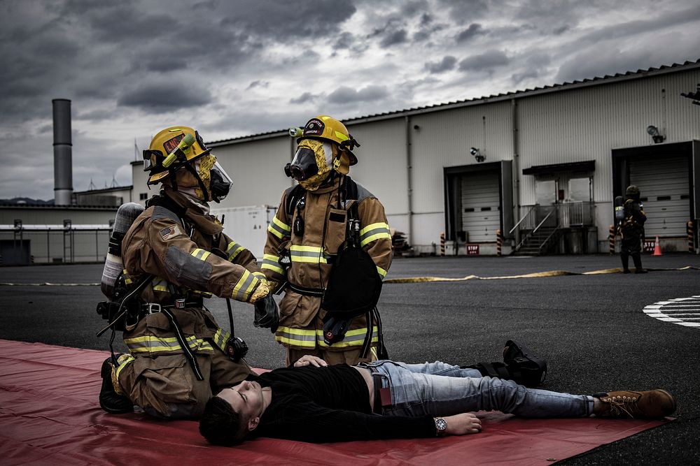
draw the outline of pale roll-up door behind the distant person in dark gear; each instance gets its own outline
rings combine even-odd
[[[687,157],[633,158],[629,161],[630,184],[642,197],[647,238],[685,236],[690,218]]]

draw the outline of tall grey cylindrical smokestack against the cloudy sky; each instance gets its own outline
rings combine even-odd
[[[53,99],[53,194],[55,205],[71,205],[73,197],[73,143],[71,101]]]

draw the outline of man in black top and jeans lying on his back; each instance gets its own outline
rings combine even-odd
[[[664,390],[570,395],[482,377],[435,363],[374,361],[332,365],[303,356],[227,388],[209,400],[200,433],[212,444],[253,437],[300,442],[435,437],[481,432],[472,412],[528,418],[663,418],[675,411]]]

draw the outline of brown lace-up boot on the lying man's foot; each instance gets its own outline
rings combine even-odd
[[[660,419],[675,411],[675,398],[665,390],[611,391],[593,397],[598,405],[593,412],[601,417]]]

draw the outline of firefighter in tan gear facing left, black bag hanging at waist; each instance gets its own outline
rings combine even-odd
[[[299,184],[282,194],[267,228],[262,261],[272,288],[285,291],[275,339],[286,347],[288,365],[304,355],[321,357],[328,364],[376,360],[377,346],[381,351],[382,345],[381,321],[374,305],[392,256],[384,206],[348,176],[350,166],[357,163],[353,149],[359,144],[344,124],[319,115],[303,129],[290,129],[290,136],[298,136],[297,151],[285,173]],[[374,284],[376,296],[369,305],[373,311],[336,319],[322,303],[329,298],[326,291],[337,267],[334,263],[341,252],[350,249],[350,233],[355,235],[360,254],[371,258],[365,261],[371,262],[363,272],[365,277],[359,278]],[[375,291],[362,286],[351,293],[362,296]]]

